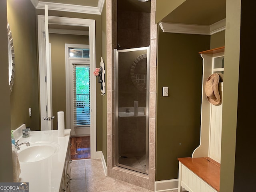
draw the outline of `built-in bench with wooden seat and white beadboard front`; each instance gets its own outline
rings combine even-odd
[[[179,189],[182,187],[191,192],[219,192],[220,164],[209,157],[178,158]]]

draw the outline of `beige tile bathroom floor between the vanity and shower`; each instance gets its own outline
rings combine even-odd
[[[70,166],[73,180],[70,184],[70,192],[152,192],[106,177],[100,159],[73,160]]]

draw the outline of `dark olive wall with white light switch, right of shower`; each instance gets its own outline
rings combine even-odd
[[[158,32],[156,180],[178,178],[179,157],[200,143],[203,61],[210,36]],[[162,87],[169,96],[162,97]]]

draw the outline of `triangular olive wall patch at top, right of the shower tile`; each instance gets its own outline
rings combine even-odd
[[[156,23],[160,22],[170,12],[186,0],[156,0]]]

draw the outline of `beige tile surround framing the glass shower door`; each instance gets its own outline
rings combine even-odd
[[[156,141],[156,54],[157,24],[156,0],[151,0],[150,13],[150,103],[149,103],[149,169],[148,175],[116,167],[115,164],[115,65],[114,49],[117,48],[117,0],[106,0],[107,6],[107,160],[108,176],[154,190],[155,141]],[[122,45],[121,45],[122,46]]]

